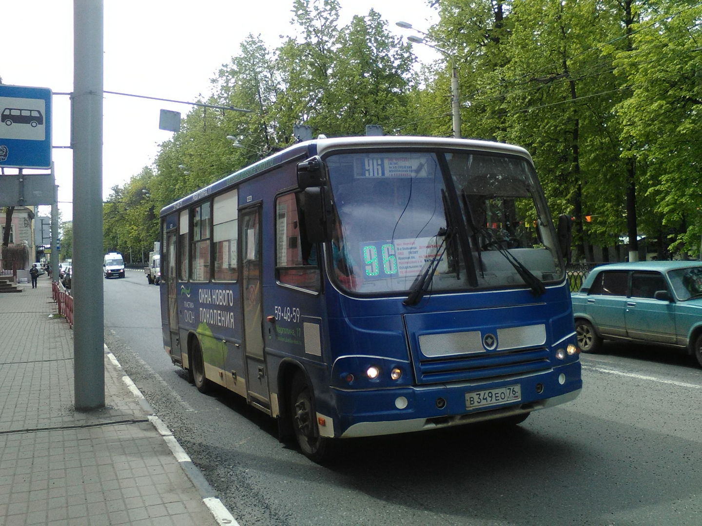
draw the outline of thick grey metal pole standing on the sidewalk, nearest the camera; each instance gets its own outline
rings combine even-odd
[[[102,291],[103,0],[73,0],[73,352],[76,410],[105,407]]]

